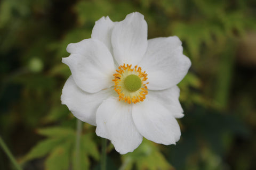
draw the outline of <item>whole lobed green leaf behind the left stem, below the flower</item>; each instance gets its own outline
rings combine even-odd
[[[97,145],[93,141],[93,135],[90,132],[81,136],[79,165],[77,164],[75,149],[76,133],[73,129],[62,127],[45,128],[39,129],[38,133],[50,139],[39,142],[22,162],[50,154],[46,159],[46,169],[59,170],[68,169],[68,167],[73,166],[73,169],[80,170],[90,168],[90,156],[95,160],[99,160],[100,158]],[[70,165],[71,161],[72,165]]]

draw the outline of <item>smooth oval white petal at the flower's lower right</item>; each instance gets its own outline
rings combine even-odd
[[[175,144],[180,139],[180,127],[171,111],[155,100],[133,105],[132,117],[140,134],[156,143]]]

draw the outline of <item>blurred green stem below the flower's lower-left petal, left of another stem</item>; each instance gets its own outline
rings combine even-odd
[[[80,146],[83,122],[79,119],[76,121],[76,150],[75,150],[75,169],[81,169]]]

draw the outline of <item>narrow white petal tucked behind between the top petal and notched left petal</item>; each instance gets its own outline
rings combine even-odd
[[[108,16],[102,17],[95,22],[92,29],[92,39],[98,39],[103,42],[109,49],[110,52],[113,51],[111,45],[111,34],[115,23],[110,20]]]

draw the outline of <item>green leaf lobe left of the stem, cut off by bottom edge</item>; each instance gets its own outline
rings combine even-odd
[[[47,157],[45,166],[47,170],[66,170],[69,167],[69,154],[71,143],[66,142],[55,148]]]

